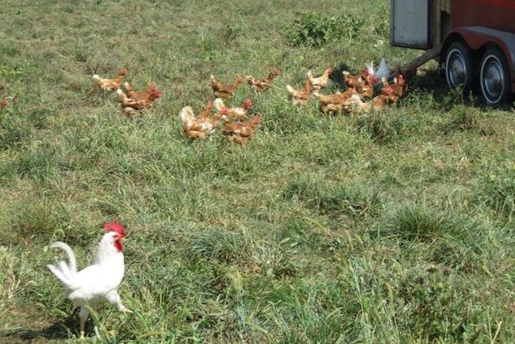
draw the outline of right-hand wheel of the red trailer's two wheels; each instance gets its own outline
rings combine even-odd
[[[490,48],[483,55],[479,83],[481,94],[490,105],[501,104],[510,98],[510,70],[499,48]]]

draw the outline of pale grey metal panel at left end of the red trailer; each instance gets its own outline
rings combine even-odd
[[[427,0],[391,0],[390,44],[429,49],[430,6]]]

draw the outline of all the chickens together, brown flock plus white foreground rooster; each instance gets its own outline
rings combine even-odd
[[[329,95],[322,95],[321,89],[329,83],[332,70],[329,68],[318,77],[313,77],[312,72],[309,71],[304,89],[294,90],[287,85],[289,100],[300,106],[305,105],[313,96],[319,100],[319,107],[324,114],[340,112],[350,114],[394,105],[405,92],[403,76],[393,78],[393,83],[388,84],[387,78],[391,73],[384,60],[377,70],[372,64],[366,64],[366,66],[367,68],[358,76],[352,76],[344,71],[347,90]],[[123,112],[126,114],[152,108],[152,102],[161,96],[161,91],[151,84],[146,90],[136,92],[131,84],[123,83],[125,75],[127,71],[122,70],[115,79],[103,79],[98,75],[94,75],[93,79],[102,90],[116,91]],[[264,79],[247,76],[247,82],[256,92],[265,92],[272,87],[273,79],[279,75],[280,71],[274,69]],[[235,108],[228,108],[224,103],[224,100],[233,98],[237,88],[243,83],[243,76],[238,76],[233,84],[221,84],[215,76],[210,78],[216,99],[209,101],[198,116],[194,116],[193,108],[189,106],[180,111],[179,122],[185,137],[188,140],[206,139],[215,132],[218,122],[221,121],[224,122],[223,135],[235,143],[245,144],[252,138],[253,128],[259,124],[260,115],[255,114],[250,120],[246,119],[252,105],[250,99]],[[120,88],[122,83],[125,92]],[[375,88],[378,92],[375,92]],[[213,107],[215,113],[210,116]],[[125,228],[116,221],[106,223],[104,228],[107,233],[100,240],[93,263],[80,271],[76,268],[75,254],[67,244],[55,242],[50,245],[51,248],[59,248],[67,253],[68,262],[59,260],[55,266],[49,264],[48,268],[65,286],[67,298],[80,307],[81,338],[84,337],[84,324],[91,309],[96,309],[100,303],[108,302],[115,305],[119,311],[131,313],[123,306],[117,292],[124,275],[122,242],[125,238]]]

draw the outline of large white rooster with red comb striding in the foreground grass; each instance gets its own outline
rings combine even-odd
[[[97,309],[100,303],[108,302],[120,312],[132,313],[125,308],[117,292],[125,273],[122,241],[125,228],[111,221],[104,225],[107,233],[102,236],[99,248],[92,264],[77,271],[75,254],[67,244],[55,242],[51,248],[59,248],[67,253],[68,263],[60,260],[56,266],[47,265],[52,273],[64,284],[67,299],[80,307],[80,336],[84,337],[84,324],[91,309]]]

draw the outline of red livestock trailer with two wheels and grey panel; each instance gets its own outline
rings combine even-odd
[[[515,0],[391,0],[390,44],[437,59],[451,89],[488,104],[515,93]]]

